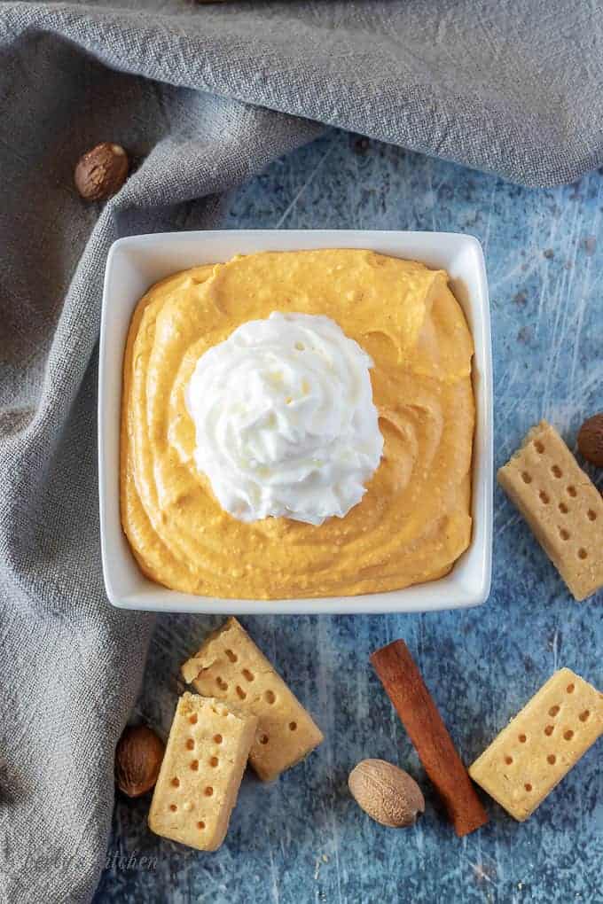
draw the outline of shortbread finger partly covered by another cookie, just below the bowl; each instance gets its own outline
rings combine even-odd
[[[323,740],[321,730],[236,618],[214,631],[182,667],[196,691],[258,717],[250,764],[262,781],[295,766]]]

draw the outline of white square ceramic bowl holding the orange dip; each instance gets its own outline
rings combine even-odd
[[[471,544],[445,578],[358,597],[220,599],[193,596],[155,584],[138,569],[119,515],[122,361],[130,317],[137,301],[158,279],[177,270],[254,251],[318,248],[369,249],[448,270],[476,347]],[[120,239],[108,253],[99,351],[100,542],[108,598],[114,606],[128,609],[236,615],[427,612],[478,606],[490,592],[492,568],[492,410],[488,289],[484,255],[473,236],[453,232],[223,230]]]

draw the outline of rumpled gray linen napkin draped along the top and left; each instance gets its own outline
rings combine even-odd
[[[152,629],[108,607],[100,571],[95,347],[110,243],[218,223],[231,186],[323,124],[526,184],[603,163],[592,5],[159,5],[0,5],[0,900],[11,904],[90,899]],[[116,198],[87,206],[71,174],[100,140],[139,165]]]

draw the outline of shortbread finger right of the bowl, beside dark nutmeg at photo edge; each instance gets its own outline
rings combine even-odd
[[[574,598],[603,587],[603,499],[551,424],[530,430],[498,482]]]

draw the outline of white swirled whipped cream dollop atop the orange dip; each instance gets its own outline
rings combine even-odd
[[[339,325],[308,314],[251,320],[205,352],[186,405],[221,507],[244,522],[343,518],[382,457],[371,367]]]

